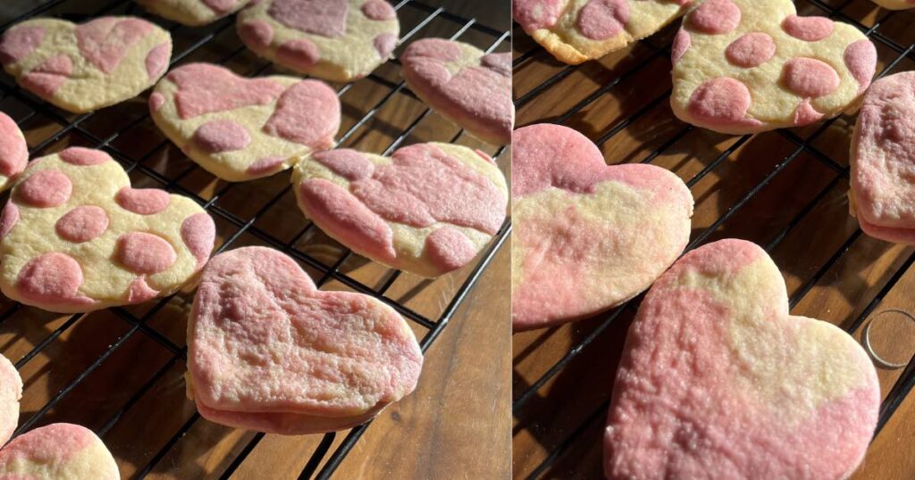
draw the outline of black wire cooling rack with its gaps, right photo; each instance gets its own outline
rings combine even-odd
[[[910,27],[915,21],[913,12],[889,12],[878,10],[877,5],[867,0],[846,1],[821,1],[803,0],[796,2],[799,15],[830,16],[835,20],[848,22],[867,34],[877,45],[880,66],[877,73],[880,76],[912,69],[911,61],[915,60],[915,37],[910,33]],[[875,13],[876,12],[876,13]],[[866,26],[864,23],[870,24]],[[889,26],[889,27],[887,27]],[[674,25],[662,30],[656,36],[638,42],[627,55],[620,54],[619,58],[607,60],[610,65],[609,72],[603,65],[596,62],[582,66],[563,66],[554,62],[543,48],[537,47],[533,40],[526,38],[522,28],[514,26],[514,76],[516,91],[515,105],[519,111],[518,125],[530,123],[565,123],[587,134],[602,148],[607,155],[608,163],[640,161],[641,163],[658,163],[665,156],[676,157],[683,154],[670,165],[664,165],[677,171],[688,162],[699,158],[699,165],[694,165],[692,170],[684,176],[686,185],[694,190],[696,206],[699,208],[706,198],[716,195],[716,190],[727,188],[728,182],[746,184],[746,191],[731,193],[733,201],[719,199],[719,208],[714,215],[706,218],[707,226],[695,229],[688,244],[687,250],[704,244],[707,241],[717,240],[727,236],[737,236],[756,240],[767,251],[779,249],[786,238],[795,239],[802,235],[815,235],[820,237],[819,231],[811,231],[805,227],[810,219],[817,215],[824,215],[824,211],[832,208],[838,211],[837,219],[850,227],[836,227],[827,235],[842,236],[841,241],[834,251],[822,251],[823,245],[814,241],[806,241],[806,247],[791,247],[800,255],[812,255],[823,258],[823,261],[805,267],[800,273],[792,275],[799,278],[790,283],[790,305],[792,313],[802,301],[815,303],[814,295],[809,294],[822,290],[823,284],[839,283],[837,278],[848,270],[844,263],[848,262],[846,254],[856,247],[860,247],[867,237],[857,228],[853,219],[848,219],[845,207],[845,189],[849,175],[849,167],[845,160],[847,155],[848,135],[850,125],[855,122],[853,113],[840,116],[824,123],[815,124],[800,129],[785,129],[775,133],[766,133],[765,137],[770,146],[770,155],[780,155],[780,160],[771,163],[769,170],[766,165],[747,165],[752,158],[740,159],[735,162],[735,156],[742,150],[750,148],[753,137],[758,135],[712,136],[695,140],[696,135],[714,135],[712,133],[697,132],[691,125],[673,119],[673,113],[667,106],[671,95],[670,80],[667,74],[670,70],[670,41],[673,33],[679,27],[679,20]],[[884,30],[887,30],[884,32]],[[899,40],[901,37],[903,39]],[[660,38],[660,40],[659,40]],[[522,47],[524,46],[524,47]],[[666,63],[665,63],[666,62]],[[882,67],[882,69],[880,68]],[[536,80],[525,84],[525,75],[529,72],[540,70],[542,73]],[[580,70],[587,70],[582,73]],[[655,76],[660,75],[660,77]],[[575,75],[587,80],[571,80]],[[646,85],[645,80],[651,79]],[[599,80],[598,80],[599,79]],[[588,82],[591,80],[591,82]],[[636,86],[631,86],[636,84]],[[582,100],[574,102],[565,97],[575,86],[589,88],[596,85],[593,91],[583,93]],[[625,89],[624,86],[629,85]],[[664,91],[664,89],[667,89]],[[525,90],[526,89],[526,90]],[[660,94],[640,94],[639,91],[657,91]],[[615,96],[616,100],[608,101],[608,96]],[[627,98],[638,96],[638,100]],[[598,105],[599,102],[604,103]],[[562,103],[558,111],[551,111],[550,103]],[[544,107],[544,103],[547,105]],[[619,110],[619,120],[608,123],[606,127],[594,126],[595,119],[602,112],[616,108],[617,103],[623,103]],[[539,104],[539,105],[537,105]],[[571,108],[567,105],[571,104]],[[534,108],[535,107],[535,108]],[[533,111],[528,114],[526,111]],[[660,113],[659,113],[660,112]],[[609,115],[610,113],[607,113]],[[841,123],[841,124],[839,124]],[[652,126],[645,126],[651,124]],[[630,134],[630,129],[640,125],[640,130],[651,134],[640,137]],[[658,126],[660,125],[660,126]],[[653,129],[653,130],[652,130]],[[655,133],[661,132],[661,133]],[[839,133],[836,133],[839,132]],[[661,136],[659,136],[661,135]],[[843,138],[837,138],[842,135]],[[780,137],[782,140],[772,142],[769,139]],[[627,139],[619,140],[619,137]],[[631,138],[635,138],[632,140]],[[690,139],[690,137],[693,137]],[[716,142],[714,149],[696,148],[697,144],[707,142],[712,138]],[[619,140],[619,144],[626,148],[624,152],[616,152],[615,145],[609,145]],[[641,143],[641,144],[640,144]],[[775,144],[785,144],[779,147]],[[638,148],[630,148],[632,144],[640,144]],[[756,150],[767,149],[766,146],[754,147]],[[842,152],[841,149],[845,149]],[[676,153],[672,151],[676,150]],[[698,150],[691,152],[691,150]],[[716,155],[717,154],[717,155]],[[692,158],[690,158],[692,155]],[[765,155],[765,154],[763,154]],[[803,158],[803,160],[799,160]],[[813,160],[811,160],[813,159]],[[815,162],[822,166],[816,167],[817,174],[822,178],[812,180],[809,174],[799,173],[801,166],[794,165],[802,162]],[[743,162],[743,163],[741,163]],[[727,168],[726,173],[714,175],[714,172]],[[811,168],[803,167],[811,170]],[[746,172],[744,171],[746,170]],[[786,172],[791,172],[786,173]],[[760,201],[762,196],[792,197],[791,192],[784,187],[793,180],[788,176],[799,176],[808,184],[794,184],[791,188],[802,187],[811,190],[800,207],[792,211],[791,216],[773,214],[778,218],[777,228],[767,228],[770,214],[760,211],[760,205],[772,200]],[[807,175],[807,176],[804,176]],[[748,176],[755,176],[748,181]],[[696,195],[696,187],[702,184],[704,188]],[[712,187],[708,187],[712,184]],[[778,184],[778,185],[777,185]],[[773,192],[774,190],[774,192]],[[815,193],[813,193],[815,192]],[[722,195],[722,197],[727,197]],[[783,203],[788,203],[784,201]],[[778,206],[778,200],[775,201]],[[835,206],[838,208],[834,208]],[[824,207],[826,206],[826,207]],[[832,207],[830,207],[832,206]],[[751,210],[751,214],[741,217],[742,209]],[[843,211],[845,209],[845,211]],[[759,216],[759,218],[748,217]],[[728,220],[731,220],[728,222]],[[733,223],[743,221],[749,227],[727,227]],[[727,233],[736,231],[741,234]],[[800,234],[800,235],[799,235]],[[846,236],[847,235],[847,236]],[[764,241],[760,241],[760,239]],[[795,239],[796,240],[796,239]],[[809,240],[809,239],[808,239]],[[834,243],[837,242],[834,241]],[[795,243],[804,243],[804,240]],[[858,245],[856,245],[858,244]],[[828,248],[833,248],[829,245]],[[885,298],[891,296],[894,287],[905,286],[900,283],[906,272],[915,262],[915,253],[911,249],[891,247],[884,244],[881,248],[899,251],[898,260],[886,269],[883,277],[878,279],[881,284],[873,285],[867,294],[857,298],[849,298],[848,314],[845,317],[834,318],[834,322],[841,325],[847,332],[860,336],[860,329],[866,320],[875,312],[878,305]],[[793,250],[792,250],[793,249]],[[799,250],[801,249],[801,250]],[[804,250],[806,249],[806,250]],[[811,252],[816,252],[815,254]],[[849,257],[851,255],[848,255]],[[795,261],[790,259],[789,261]],[[777,259],[778,262],[778,259]],[[803,263],[803,261],[799,261]],[[780,267],[791,268],[780,262]],[[838,271],[838,273],[836,273]],[[903,293],[904,295],[904,293]],[[813,300],[813,301],[812,301]],[[516,336],[514,343],[514,384],[512,413],[515,418],[514,425],[514,474],[517,477],[562,477],[587,478],[600,475],[602,456],[602,432],[606,418],[609,392],[612,388],[612,379],[616,370],[616,362],[622,340],[631,316],[637,309],[640,297],[620,305],[604,315],[575,325],[565,325],[540,333]],[[824,303],[824,302],[823,302]],[[857,305],[854,305],[857,303]],[[910,305],[909,308],[915,305]],[[811,308],[816,315],[816,308]],[[820,311],[825,315],[827,311]],[[796,314],[797,315],[797,314]],[[823,316],[821,316],[822,318]],[[522,340],[519,340],[522,337]],[[558,339],[557,339],[558,338]],[[558,347],[557,347],[558,346]],[[608,347],[610,347],[608,351]],[[552,348],[552,350],[551,350]],[[906,351],[911,351],[910,347]],[[597,373],[595,373],[597,371]],[[586,373],[590,372],[590,373]],[[563,376],[568,378],[563,379]],[[910,360],[906,368],[896,371],[879,370],[881,387],[885,394],[877,425],[877,434],[887,425],[889,419],[899,409],[910,390],[915,386],[915,360]],[[602,382],[597,387],[589,385]],[[877,438],[875,434],[875,438]],[[910,473],[911,475],[911,473]],[[888,476],[884,476],[888,478]],[[910,477],[910,476],[906,476]]]

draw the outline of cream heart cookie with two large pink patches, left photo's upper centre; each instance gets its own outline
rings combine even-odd
[[[231,182],[273,175],[332,147],[340,125],[337,92],[322,81],[246,79],[209,63],[169,71],[149,108],[188,157]]]

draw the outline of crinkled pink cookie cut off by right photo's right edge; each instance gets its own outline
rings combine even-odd
[[[849,211],[871,237],[915,245],[915,72],[867,91],[851,151]]]

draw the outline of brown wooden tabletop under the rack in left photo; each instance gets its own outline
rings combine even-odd
[[[507,0],[506,0],[507,3]],[[481,25],[508,30],[509,10],[473,2],[427,0],[421,7],[404,1],[398,11],[402,33],[410,39],[451,37],[480,48],[508,51],[505,37],[467,28],[456,17],[476,16]],[[478,5],[470,5],[478,4]],[[0,24],[33,8],[53,5],[42,15],[83,21],[100,14],[140,15],[171,31],[178,64],[190,61],[224,63],[245,75],[279,73],[242,47],[233,18],[207,27],[190,28],[146,15],[128,0],[5,0]],[[433,18],[424,23],[426,18]],[[8,27],[5,26],[5,27]],[[3,27],[5,29],[5,27]],[[398,48],[397,52],[402,51]],[[186,52],[186,53],[185,53]],[[351,85],[340,97],[343,125],[354,128],[343,146],[382,153],[393,143],[448,142],[465,144],[494,155],[495,145],[460,134],[458,127],[426,112],[407,89],[398,90],[400,71],[389,62],[375,76]],[[319,270],[338,268],[341,277],[370,289],[386,288],[384,296],[433,322],[446,312],[472,265],[434,281],[410,274],[393,276],[390,269],[348,254],[319,229],[307,228],[288,190],[289,173],[227,184],[196,167],[149,120],[146,95],[82,117],[61,112],[0,78],[0,110],[26,133],[35,156],[68,145],[96,146],[107,141],[130,172],[134,187],[162,187],[188,192],[211,202],[218,246],[271,244],[308,255],[321,269],[303,264],[313,278]],[[342,85],[335,85],[340,89]],[[71,122],[76,121],[76,126]],[[408,134],[402,137],[404,132]],[[506,173],[509,151],[498,159]],[[3,198],[5,200],[5,197]],[[415,392],[374,421],[336,478],[505,478],[511,475],[509,257],[506,241],[496,252],[479,283],[472,288],[429,348]],[[393,281],[393,283],[391,283]],[[388,286],[387,284],[390,283]],[[331,279],[324,289],[350,289]],[[20,424],[31,427],[69,421],[99,432],[113,452],[124,478],[218,478],[235,469],[232,478],[296,478],[322,435],[265,435],[253,448],[255,435],[200,419],[185,397],[182,357],[193,291],[156,304],[112,309],[90,315],[54,315],[0,298],[0,352],[14,362],[25,381]],[[428,329],[411,322],[416,335]],[[87,369],[89,368],[89,369]],[[49,400],[65,395],[54,403]],[[348,432],[339,432],[332,453]],[[240,454],[244,460],[233,464]],[[329,453],[317,464],[318,470]]]

